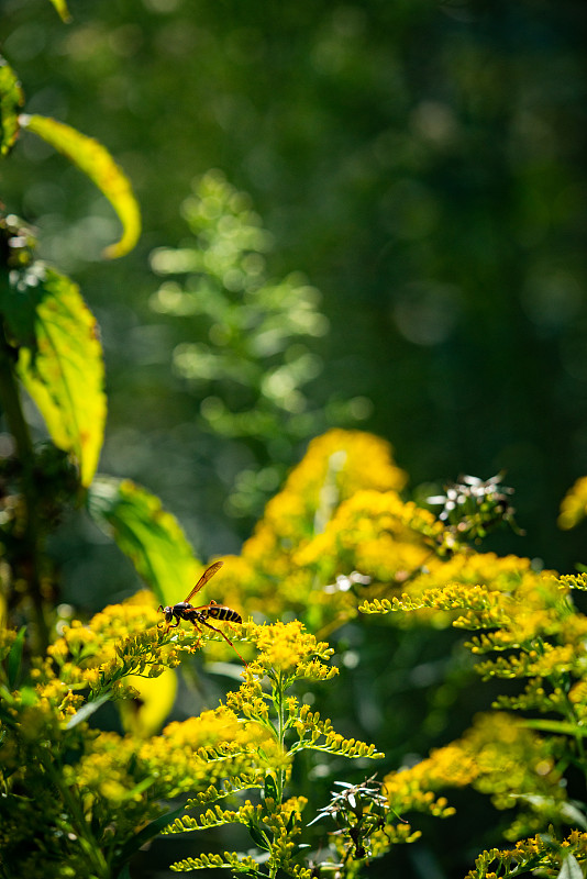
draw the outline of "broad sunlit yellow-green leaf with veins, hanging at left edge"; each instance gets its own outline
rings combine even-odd
[[[35,263],[0,283],[0,311],[19,351],[16,374],[53,442],[73,453],[82,486],[92,480],[106,423],[102,347],[78,287]]]

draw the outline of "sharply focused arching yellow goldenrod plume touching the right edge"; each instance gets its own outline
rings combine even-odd
[[[587,687],[582,686],[587,669],[587,617],[575,609],[569,590],[585,589],[586,582],[583,575],[538,572],[528,559],[513,556],[461,554],[444,563],[435,557],[401,596],[364,601],[359,610],[409,613],[420,621],[429,613],[433,624],[442,625],[444,619],[475,632],[465,646],[477,656],[494,654],[476,667],[485,679],[527,681],[522,693],[499,697],[499,706],[555,710],[580,725],[587,717]],[[562,675],[567,676],[565,687]]]

